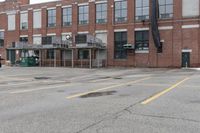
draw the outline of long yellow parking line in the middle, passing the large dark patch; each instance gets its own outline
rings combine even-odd
[[[138,82],[147,80],[147,79],[150,79],[150,77],[146,77],[146,78],[142,78],[142,79],[138,79],[138,80],[134,80],[134,81],[122,83],[122,84],[112,85],[112,86],[108,86],[108,87],[105,87],[105,88],[100,88],[100,89],[93,90],[93,91],[78,93],[78,94],[75,94],[75,95],[72,95],[72,96],[68,96],[68,97],[66,97],[66,98],[67,98],[67,99],[77,98],[77,97],[80,97],[80,96],[87,95],[87,94],[89,94],[89,93],[95,93],[95,92],[100,92],[100,91],[104,91],[104,90],[109,90],[109,89],[116,88],[116,87],[120,87],[120,86],[125,86],[125,85],[129,85],[129,84],[135,84],[135,83],[138,83]]]

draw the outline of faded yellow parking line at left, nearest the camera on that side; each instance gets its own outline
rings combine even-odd
[[[33,91],[40,91],[40,90],[48,90],[48,89],[55,89],[55,88],[60,88],[60,87],[68,87],[72,86],[72,84],[64,84],[64,85],[57,85],[57,86],[49,86],[49,87],[40,87],[36,89],[27,89],[27,90],[17,90],[10,92],[11,94],[19,94],[19,93],[27,93],[27,92],[33,92]]]

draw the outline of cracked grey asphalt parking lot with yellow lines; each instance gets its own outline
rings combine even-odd
[[[198,133],[196,69],[0,69],[0,133]]]

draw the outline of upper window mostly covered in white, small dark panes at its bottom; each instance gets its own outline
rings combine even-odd
[[[20,29],[27,30],[28,29],[28,13],[21,13],[20,14]]]

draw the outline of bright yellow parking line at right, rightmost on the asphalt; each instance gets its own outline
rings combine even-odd
[[[178,87],[179,85],[181,85],[182,83],[184,83],[185,81],[187,81],[188,79],[190,79],[189,77],[184,78],[183,80],[179,81],[178,83],[172,85],[170,88],[165,89],[164,91],[146,99],[145,101],[141,102],[141,104],[145,105],[148,104],[150,102],[152,102],[153,100],[156,100],[157,98],[161,97],[162,95],[164,95],[165,93],[173,90],[174,88]]]

